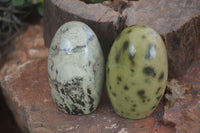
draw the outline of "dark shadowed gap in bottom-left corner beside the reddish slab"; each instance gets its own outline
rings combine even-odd
[[[5,102],[0,86],[0,133],[23,133],[18,127],[12,112]]]

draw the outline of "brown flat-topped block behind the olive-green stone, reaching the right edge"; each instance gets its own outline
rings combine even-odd
[[[199,0],[140,0],[125,9],[126,26],[144,24],[162,35],[168,52],[169,76],[183,75],[200,43]]]

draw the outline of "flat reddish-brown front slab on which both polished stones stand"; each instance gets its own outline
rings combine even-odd
[[[69,116],[62,113],[50,94],[46,59],[28,62],[16,75],[6,76],[1,83],[3,94],[25,132],[174,132],[173,128],[159,122],[161,105],[146,119],[128,120],[113,112],[107,95],[90,115]]]

